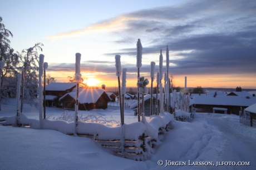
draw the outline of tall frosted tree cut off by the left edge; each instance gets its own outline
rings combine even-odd
[[[1,91],[0,91],[0,111],[1,104],[6,103],[8,98],[16,96],[15,69],[19,63],[18,55],[14,53],[14,49],[10,47],[11,41],[9,37],[13,37],[12,32],[6,29],[0,17],[0,61],[4,62],[1,72]]]

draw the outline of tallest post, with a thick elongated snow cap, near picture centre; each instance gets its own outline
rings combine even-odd
[[[140,39],[137,41],[137,63],[136,67],[138,69],[138,75],[137,75],[137,81],[139,82],[140,79],[140,68],[142,66],[141,63],[142,60],[142,45],[140,42]],[[137,116],[138,116],[138,122],[140,122],[140,93],[139,93],[139,86],[137,87]]]

